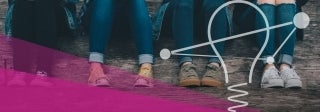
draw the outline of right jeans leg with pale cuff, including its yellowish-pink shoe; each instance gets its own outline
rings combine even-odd
[[[130,0],[129,21],[139,53],[139,77],[134,86],[152,87],[153,40],[151,19],[144,0]]]

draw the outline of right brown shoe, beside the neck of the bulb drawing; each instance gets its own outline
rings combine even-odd
[[[220,67],[208,64],[206,73],[201,79],[202,86],[221,87],[223,85],[223,72]]]

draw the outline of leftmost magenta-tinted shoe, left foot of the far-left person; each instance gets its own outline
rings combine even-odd
[[[8,86],[26,86],[25,81],[26,73],[24,72],[16,72],[13,78],[8,81]]]

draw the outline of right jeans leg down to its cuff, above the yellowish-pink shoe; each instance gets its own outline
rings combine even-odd
[[[138,48],[139,65],[153,63],[153,40],[151,19],[144,0],[130,0],[129,21]]]

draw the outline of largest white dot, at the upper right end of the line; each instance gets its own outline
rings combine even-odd
[[[308,14],[304,12],[299,12],[293,18],[294,25],[299,29],[307,28],[310,23],[310,18]]]

